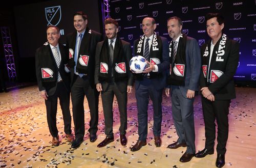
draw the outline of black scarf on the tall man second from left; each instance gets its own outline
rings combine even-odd
[[[84,35],[82,37],[79,52],[77,54],[77,63],[76,63],[76,71],[78,73],[89,73],[89,66],[94,63],[90,63],[90,44],[91,44],[91,36],[92,31],[87,26],[86,32],[84,32]],[[77,44],[78,45],[78,44]],[[84,47],[83,47],[84,46]],[[75,47],[73,47],[75,49]],[[83,48],[83,50],[81,50]],[[69,66],[74,67],[75,61],[74,61],[74,51],[72,48],[69,49]]]

